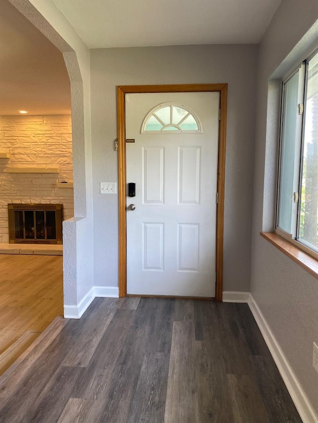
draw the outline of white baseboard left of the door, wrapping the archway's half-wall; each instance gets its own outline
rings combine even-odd
[[[118,287],[92,287],[78,305],[64,305],[66,319],[79,319],[95,297],[118,298]]]

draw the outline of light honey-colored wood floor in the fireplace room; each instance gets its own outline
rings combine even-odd
[[[0,373],[10,350],[21,354],[63,315],[62,263],[62,256],[0,254]]]

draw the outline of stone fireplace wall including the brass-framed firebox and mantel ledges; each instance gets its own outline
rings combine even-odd
[[[24,208],[14,212],[19,219],[16,228],[20,229],[14,235],[10,230],[10,236],[8,204]],[[44,205],[62,204],[63,216],[62,208],[54,213],[50,208],[41,209]],[[27,209],[30,206],[33,209]],[[56,216],[57,224],[60,216],[64,220],[74,216],[71,116],[0,117],[0,248],[9,242],[21,248],[28,247],[23,243],[48,244],[45,248],[51,243],[62,243],[62,229],[57,229],[53,240],[51,226],[42,227],[40,232],[36,228],[37,219],[51,225],[52,216]],[[32,229],[21,229],[23,220],[34,228],[33,235]]]

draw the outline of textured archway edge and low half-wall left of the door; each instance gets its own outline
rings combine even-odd
[[[51,1],[9,1],[62,52],[70,77],[75,216],[63,222],[64,315],[79,318],[93,291],[89,50]]]

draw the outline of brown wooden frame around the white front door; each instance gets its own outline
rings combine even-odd
[[[228,84],[186,85],[121,85],[117,86],[118,130],[118,191],[119,191],[119,297],[127,292],[127,223],[126,223],[126,115],[125,95],[134,93],[219,92],[220,125],[218,153],[218,204],[216,234],[216,300],[222,301],[223,292],[223,235],[225,194],[225,147],[227,129]]]

